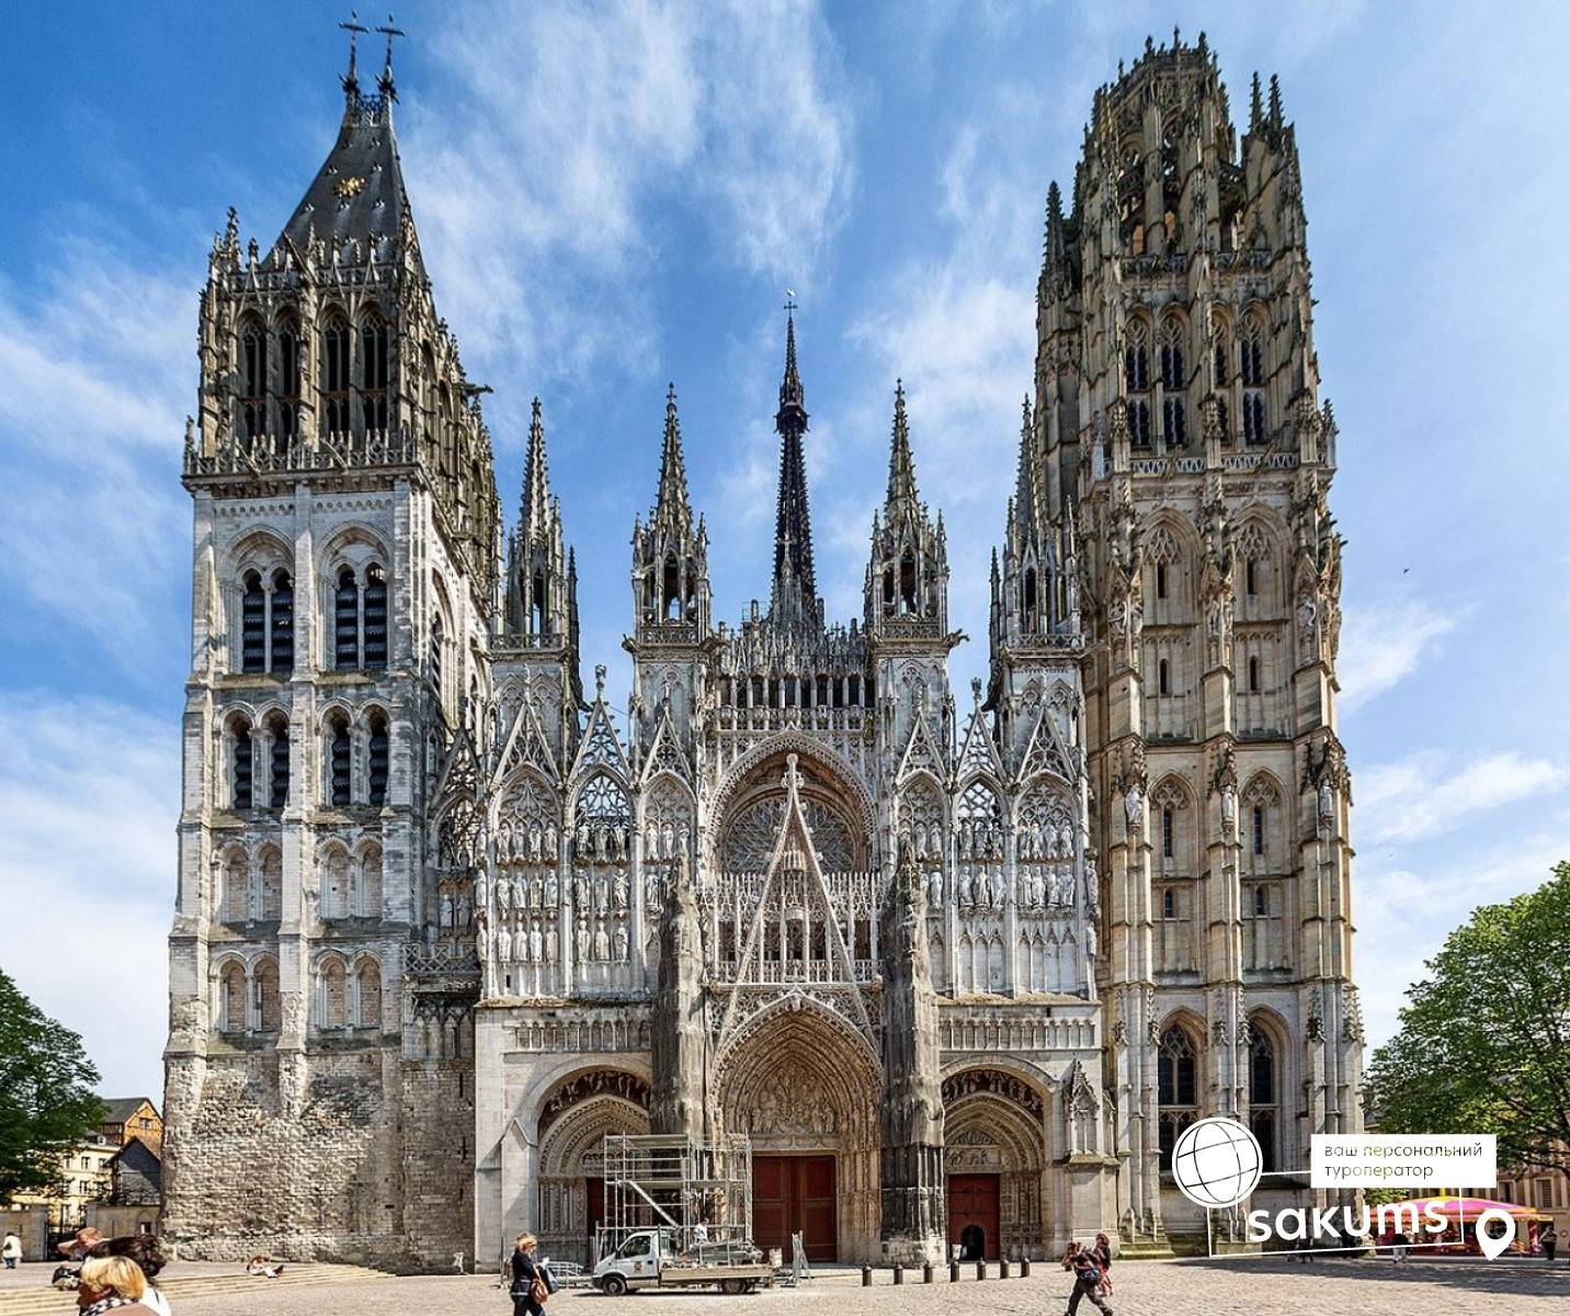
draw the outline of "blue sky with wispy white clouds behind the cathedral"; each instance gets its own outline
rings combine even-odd
[[[108,1095],[162,1090],[190,671],[196,298],[331,146],[344,17],[16,6],[0,50],[0,967]],[[375,19],[380,22],[380,17]],[[895,378],[986,664],[1047,184],[1148,33],[1234,116],[1281,77],[1341,430],[1341,735],[1372,1043],[1479,903],[1570,859],[1570,9],[1259,3],[403,5],[396,113],[440,313],[517,507],[529,399],[578,548],[586,675],[631,622],[666,383],[716,617],[766,597],[785,289],[820,587],[859,616]],[[378,38],[361,69],[378,69]],[[620,697],[620,696],[619,696]]]

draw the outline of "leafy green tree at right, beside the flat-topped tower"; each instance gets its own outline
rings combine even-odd
[[[1484,905],[1426,963],[1364,1090],[1380,1132],[1495,1134],[1502,1167],[1570,1176],[1570,864]]]

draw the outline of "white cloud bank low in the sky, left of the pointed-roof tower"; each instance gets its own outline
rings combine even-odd
[[[0,696],[5,967],[116,1096],[163,1087],[176,737],[119,704]]]

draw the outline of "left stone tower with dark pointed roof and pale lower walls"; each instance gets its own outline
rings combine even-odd
[[[496,484],[403,188],[391,33],[374,94],[353,46],[342,85],[283,232],[242,242],[231,210],[201,295],[165,1052],[187,1256],[429,1263],[471,1236],[474,912],[427,820],[491,752]]]

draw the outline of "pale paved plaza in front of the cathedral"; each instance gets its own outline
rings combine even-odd
[[[215,1274],[225,1267],[171,1267],[182,1275]],[[228,1267],[234,1269],[234,1267]],[[31,1274],[27,1274],[27,1272]],[[597,1292],[564,1291],[550,1303],[553,1316],[611,1316],[708,1311],[713,1316],[798,1311],[843,1313],[955,1313],[999,1311],[1055,1316],[1066,1305],[1068,1277],[1036,1267],[1028,1280],[962,1280],[956,1292],[947,1283],[895,1288],[887,1272],[871,1289],[854,1270],[832,1270],[801,1289],[776,1289],[752,1297],[669,1292],[608,1299]],[[47,1277],[25,1267],[0,1281],[0,1316],[9,1311],[72,1311],[69,1296],[39,1303]],[[920,1278],[917,1275],[917,1278]],[[1325,1316],[1325,1313],[1391,1313],[1391,1316],[1490,1316],[1490,1313],[1564,1313],[1570,1303],[1570,1266],[1543,1263],[1485,1263],[1481,1259],[1411,1261],[1394,1267],[1382,1261],[1317,1261],[1313,1267],[1259,1258],[1234,1261],[1130,1261],[1115,1267],[1112,1305],[1119,1316]],[[184,1283],[184,1281],[181,1281]],[[174,1285],[176,1291],[181,1285]],[[25,1294],[25,1297],[24,1297]],[[177,1316],[382,1316],[389,1310],[421,1316],[507,1316],[506,1294],[487,1277],[377,1278],[333,1285],[250,1285],[207,1296],[176,1296]],[[1082,1307],[1093,1313],[1094,1308]]]

